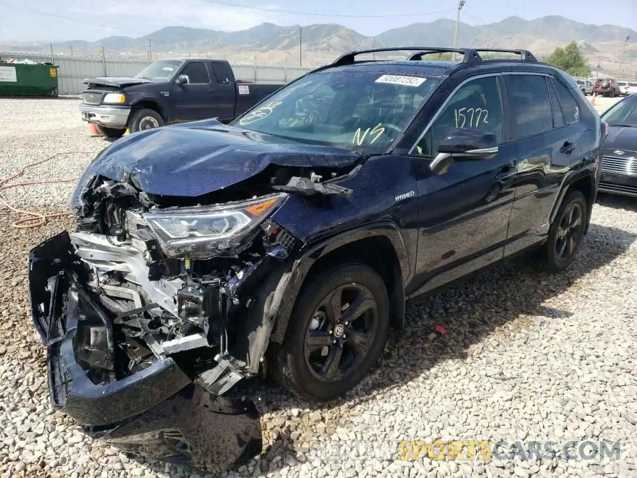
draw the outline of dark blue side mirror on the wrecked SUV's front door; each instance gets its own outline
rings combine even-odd
[[[496,135],[480,129],[454,128],[440,141],[438,156],[429,168],[440,175],[447,172],[454,161],[480,161],[496,156]]]

